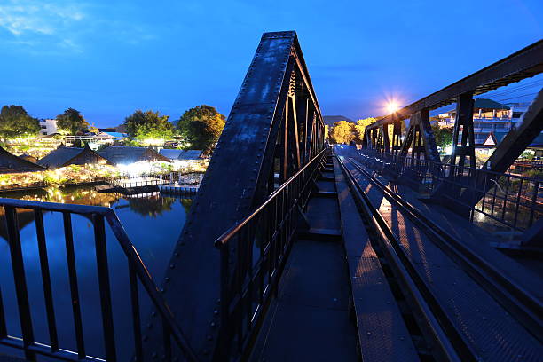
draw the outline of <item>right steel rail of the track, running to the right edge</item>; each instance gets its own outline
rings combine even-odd
[[[402,210],[403,215],[423,229],[438,248],[460,264],[462,269],[467,271],[477,284],[484,287],[493,299],[512,314],[529,333],[539,342],[543,341],[543,303],[536,295],[508,278],[474,250],[453,238],[442,227],[390,190],[390,187],[359,166],[356,161],[350,159],[350,163],[377,186],[388,201],[395,203],[398,209]]]

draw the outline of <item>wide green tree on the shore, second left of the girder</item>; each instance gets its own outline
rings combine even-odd
[[[174,135],[174,126],[168,122],[169,115],[161,115],[159,112],[137,110],[124,119],[127,133],[130,137],[140,142],[148,139],[166,140]]]

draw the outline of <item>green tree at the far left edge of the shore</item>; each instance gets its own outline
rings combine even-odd
[[[35,135],[40,131],[37,119],[28,115],[22,106],[3,106],[0,111],[0,136],[13,138]]]

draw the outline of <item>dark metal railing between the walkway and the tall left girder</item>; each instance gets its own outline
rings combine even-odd
[[[325,152],[321,151],[271,193],[264,204],[215,241],[221,252],[220,355],[243,355],[255,337],[271,297],[277,293],[297,216],[309,199],[311,183]]]

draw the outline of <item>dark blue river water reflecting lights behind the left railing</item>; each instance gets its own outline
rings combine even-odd
[[[91,187],[50,189],[42,192],[33,191],[32,193],[10,193],[3,194],[2,197],[111,207],[115,210],[130,240],[152,273],[153,279],[158,280],[159,284],[179,233],[183,224],[185,224],[185,216],[192,204],[190,199],[169,197],[160,193],[123,196],[120,193],[98,193]],[[2,219],[0,220],[0,291],[3,297],[5,314],[8,316],[9,334],[20,336],[20,324],[17,319],[18,310],[10,253],[6,241],[7,233],[3,209],[0,210],[0,218]],[[35,337],[38,342],[49,344],[39,253],[35,237],[34,212],[19,209],[18,221]],[[71,313],[62,216],[56,212],[45,213],[43,214],[43,221],[51,268],[51,281],[55,295],[54,308],[59,328],[59,340],[63,348],[75,350],[74,321]],[[104,346],[93,227],[91,220],[83,216],[73,216],[72,224],[87,352],[93,356],[103,357]],[[114,238],[113,232],[108,227],[106,227],[106,242],[114,303],[116,342],[121,354],[119,360],[129,360],[133,344],[131,342],[132,329],[128,298],[130,290],[128,288],[127,261]],[[141,315],[143,319],[146,319],[150,303],[144,296],[141,295]],[[143,320],[143,322],[146,322],[146,320]]]

